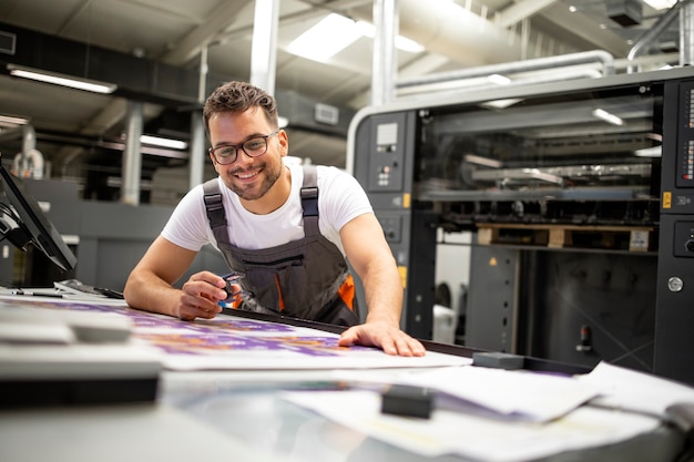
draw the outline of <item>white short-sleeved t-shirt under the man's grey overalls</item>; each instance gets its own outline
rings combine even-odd
[[[256,215],[246,211],[238,196],[221,178],[220,191],[226,212],[229,240],[245,249],[275,247],[304,237],[299,189],[304,181],[302,165],[288,164],[292,172],[292,193],[278,209]],[[318,228],[320,234],[340,249],[339,230],[351,219],[372,212],[361,185],[351,175],[336,168],[318,165]],[[178,203],[162,230],[173,244],[197,251],[205,244],[217,247],[205,213],[203,185],[191,189]]]

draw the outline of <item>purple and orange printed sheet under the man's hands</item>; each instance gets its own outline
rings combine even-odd
[[[181,321],[113,301],[35,297],[2,302],[126,316],[133,325],[132,341],[157,348],[164,368],[170,370],[410,368],[471,362],[469,358],[433,351],[421,358],[405,358],[376,348],[339,347],[337,333],[228,315]]]

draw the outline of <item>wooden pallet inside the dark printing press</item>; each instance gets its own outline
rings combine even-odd
[[[478,223],[477,240],[481,245],[522,244],[563,247],[591,247],[630,251],[649,251],[653,247],[652,226],[582,226],[508,223]]]

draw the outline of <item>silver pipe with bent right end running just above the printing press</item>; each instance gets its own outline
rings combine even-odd
[[[484,65],[480,68],[462,69],[451,72],[441,72],[438,74],[425,75],[420,78],[400,80],[396,83],[398,89],[408,86],[427,85],[433,83],[461,81],[463,79],[472,79],[488,76],[491,74],[516,74],[519,72],[531,72],[542,70],[555,70],[561,66],[602,63],[603,75],[614,74],[614,57],[602,50],[585,51],[581,53],[561,54],[558,57],[538,58],[534,60],[516,61],[500,64]]]

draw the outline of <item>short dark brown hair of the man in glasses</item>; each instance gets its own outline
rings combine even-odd
[[[232,81],[217,86],[205,102],[203,121],[205,133],[210,137],[210,117],[222,112],[244,112],[251,107],[261,107],[267,122],[277,127],[277,103],[265,91],[247,82]]]

